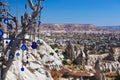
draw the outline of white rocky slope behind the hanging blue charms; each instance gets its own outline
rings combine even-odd
[[[27,42],[27,51],[16,51],[14,61],[5,74],[5,80],[53,80],[50,70],[60,70],[61,60],[43,40],[40,40],[40,43],[42,45],[39,45],[37,50],[31,48],[31,42]]]

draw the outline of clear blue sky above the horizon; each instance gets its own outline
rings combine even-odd
[[[25,4],[28,13],[31,13],[27,0],[8,2],[10,11],[15,15],[23,15]],[[120,25],[120,0],[45,0],[42,5],[42,23]]]

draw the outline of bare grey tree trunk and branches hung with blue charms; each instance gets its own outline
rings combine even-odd
[[[33,10],[32,14],[31,14],[30,21],[29,22],[23,22],[23,19],[21,18],[22,30],[18,34],[13,34],[13,37],[15,38],[15,40],[10,41],[10,43],[8,44],[7,48],[4,51],[4,55],[6,55],[7,53],[12,53],[13,55],[15,54],[16,49],[17,49],[16,45],[20,45],[20,43],[21,43],[21,40],[19,40],[19,39],[24,38],[27,31],[30,30],[30,26],[34,24],[35,18],[38,16],[39,12],[41,12],[41,10],[42,10],[41,1],[42,0],[38,0],[38,4],[33,5],[32,1],[28,0],[31,9]],[[0,2],[0,5],[4,6],[6,4],[3,4],[2,2]],[[18,21],[17,21],[16,17],[11,15],[10,13],[7,13],[7,14],[8,14],[8,16],[11,17],[10,19],[16,24],[16,27],[18,27]],[[2,18],[4,18],[4,17],[2,17]],[[9,26],[9,24],[7,24],[7,25]],[[11,43],[13,43],[13,44],[11,44]],[[11,47],[11,49],[8,52],[9,47]],[[1,74],[1,80],[5,80],[5,77],[6,77],[5,74],[6,74],[7,70],[9,70],[12,62],[13,62],[13,59],[4,60],[2,62],[2,67],[3,67],[3,65],[5,65],[7,68],[1,70],[1,73],[2,73]]]

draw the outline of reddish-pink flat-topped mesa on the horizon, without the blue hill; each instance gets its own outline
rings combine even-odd
[[[103,31],[93,24],[43,24],[43,30],[48,31]]]

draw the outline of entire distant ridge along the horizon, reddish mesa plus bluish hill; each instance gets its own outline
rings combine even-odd
[[[44,31],[115,31],[120,30],[120,26],[96,26],[94,24],[42,24]]]

